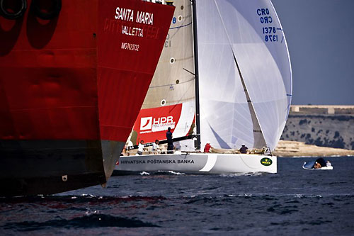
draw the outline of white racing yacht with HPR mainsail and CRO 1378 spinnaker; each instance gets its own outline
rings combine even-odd
[[[271,154],[285,127],[292,72],[270,0],[173,1],[176,11],[130,140],[181,140],[175,154],[121,156],[116,173],[277,172]],[[195,153],[207,142],[224,153]]]

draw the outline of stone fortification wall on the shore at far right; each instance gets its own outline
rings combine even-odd
[[[354,106],[292,106],[280,139],[354,150]]]

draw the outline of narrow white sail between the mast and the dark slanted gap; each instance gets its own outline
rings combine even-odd
[[[251,115],[222,20],[213,1],[197,7],[202,145],[252,145]]]

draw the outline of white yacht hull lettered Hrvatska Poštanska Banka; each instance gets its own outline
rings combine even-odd
[[[121,156],[113,174],[173,171],[193,174],[277,173],[277,157],[259,154],[181,153]]]

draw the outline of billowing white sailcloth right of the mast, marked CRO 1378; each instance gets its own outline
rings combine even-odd
[[[265,142],[273,150],[287,120],[292,92],[287,45],[273,5],[268,0],[198,3],[202,145],[209,140],[215,147],[236,148],[243,142],[253,147],[251,114],[235,56]],[[275,33],[263,31],[265,27]],[[270,35],[272,41],[266,40]]]

